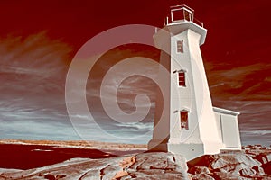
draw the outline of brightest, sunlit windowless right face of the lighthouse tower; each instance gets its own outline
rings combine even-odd
[[[219,137],[218,125],[216,124],[212,103],[210,99],[210,91],[201,58],[200,39],[201,34],[195,31],[188,31],[189,48],[192,63],[192,78],[196,103],[196,111],[198,113],[201,140],[204,143],[204,151],[206,153],[218,153],[223,144]]]

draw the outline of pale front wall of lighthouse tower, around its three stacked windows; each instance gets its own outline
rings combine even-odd
[[[191,54],[188,47],[188,31],[182,31],[171,37],[171,142],[172,143],[191,143],[191,141],[201,143],[197,111],[195,105],[195,95],[193,92],[194,84],[192,79]],[[183,53],[177,52],[177,41],[183,40]],[[178,85],[178,71],[184,70],[186,76],[186,86]],[[174,73],[175,72],[175,73]],[[173,90],[177,87],[178,94]],[[188,130],[181,130],[180,111],[187,110]]]

